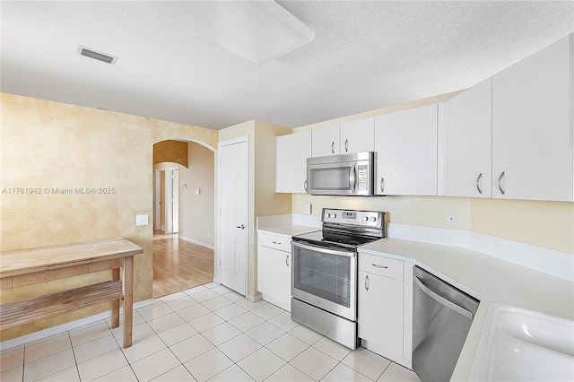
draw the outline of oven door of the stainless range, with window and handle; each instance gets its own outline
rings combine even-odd
[[[291,296],[337,316],[357,319],[357,254],[291,241]]]

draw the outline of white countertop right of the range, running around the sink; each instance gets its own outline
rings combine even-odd
[[[489,305],[509,305],[574,318],[574,283],[474,250],[381,239],[359,252],[419,265],[481,300],[451,380],[468,380]]]

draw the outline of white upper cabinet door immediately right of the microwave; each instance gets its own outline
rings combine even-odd
[[[437,195],[437,105],[375,117],[378,195]]]

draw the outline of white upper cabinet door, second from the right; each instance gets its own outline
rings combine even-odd
[[[439,112],[439,195],[491,197],[491,78]]]

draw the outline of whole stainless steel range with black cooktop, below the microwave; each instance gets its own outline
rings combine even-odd
[[[291,241],[291,319],[356,349],[357,247],[385,237],[385,213],[324,208],[321,221]]]

